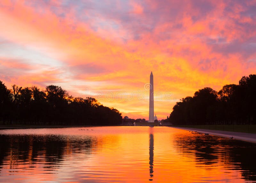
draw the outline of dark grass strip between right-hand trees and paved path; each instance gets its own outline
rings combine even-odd
[[[236,131],[244,133],[256,133],[256,125],[174,125],[184,128],[198,128],[208,130]]]

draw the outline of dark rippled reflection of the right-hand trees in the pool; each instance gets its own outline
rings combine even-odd
[[[198,166],[223,163],[229,169],[241,170],[245,180],[256,180],[255,143],[199,133],[177,134],[173,142],[174,148],[182,149],[182,155],[195,155]]]

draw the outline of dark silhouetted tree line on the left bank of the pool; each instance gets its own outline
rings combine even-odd
[[[0,123],[44,125],[118,125],[121,113],[96,99],[73,97],[60,86],[7,89],[0,81]]]

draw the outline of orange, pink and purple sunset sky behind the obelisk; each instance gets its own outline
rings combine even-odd
[[[59,85],[148,120],[256,70],[256,1],[1,0],[0,81]]]

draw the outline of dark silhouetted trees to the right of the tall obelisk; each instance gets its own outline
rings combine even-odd
[[[256,124],[256,75],[243,76],[217,92],[205,87],[180,99],[170,114],[174,125]]]

